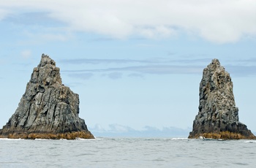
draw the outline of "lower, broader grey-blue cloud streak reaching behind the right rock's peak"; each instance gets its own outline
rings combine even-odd
[[[102,74],[111,80],[118,80],[124,77],[140,77],[145,75],[202,75],[206,66],[173,66],[173,65],[146,65],[146,66],[124,66],[119,68],[107,69],[83,69],[74,71],[63,71],[70,77],[80,78],[81,80],[89,80],[92,76]],[[255,77],[256,66],[225,66],[231,77]],[[132,73],[131,73],[132,72]],[[88,76],[86,76],[88,74]]]

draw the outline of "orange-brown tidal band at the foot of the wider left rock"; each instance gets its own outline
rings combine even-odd
[[[0,138],[10,138],[10,139],[25,139],[25,140],[35,140],[35,139],[51,139],[51,140],[75,140],[76,138],[83,139],[94,139],[94,136],[90,131],[72,131],[66,132],[64,134],[52,134],[52,133],[13,133],[13,134],[1,134]]]

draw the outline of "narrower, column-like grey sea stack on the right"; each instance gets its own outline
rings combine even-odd
[[[218,59],[212,60],[203,69],[199,96],[199,112],[195,116],[189,138],[255,139],[247,126],[239,122],[233,83]]]

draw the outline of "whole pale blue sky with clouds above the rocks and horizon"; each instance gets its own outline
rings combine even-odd
[[[0,0],[0,127],[42,53],[89,128],[137,130],[192,128],[203,69],[218,58],[256,131],[256,1]]]

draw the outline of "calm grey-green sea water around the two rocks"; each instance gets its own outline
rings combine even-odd
[[[0,139],[0,167],[256,167],[256,141]]]

